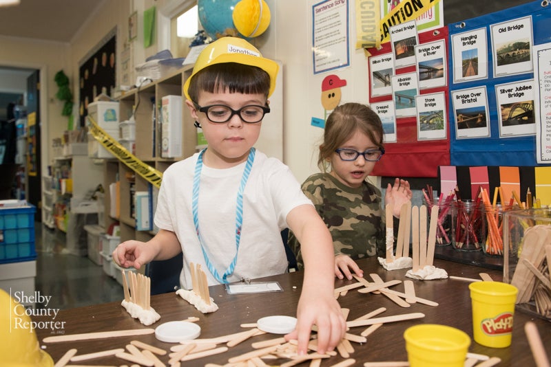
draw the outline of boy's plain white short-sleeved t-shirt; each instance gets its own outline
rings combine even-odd
[[[210,273],[202,254],[191,211],[191,192],[198,153],[176,162],[163,174],[155,224],[174,232],[183,251],[180,286],[191,289],[189,263],[201,265],[209,285],[219,282]],[[236,254],[236,203],[245,162],[226,169],[203,164],[198,199],[202,243],[220,277]],[[287,214],[311,201],[300,189],[289,167],[256,151],[243,195],[243,224],[236,267],[229,282],[260,278],[287,270],[287,256],[280,232]]]

